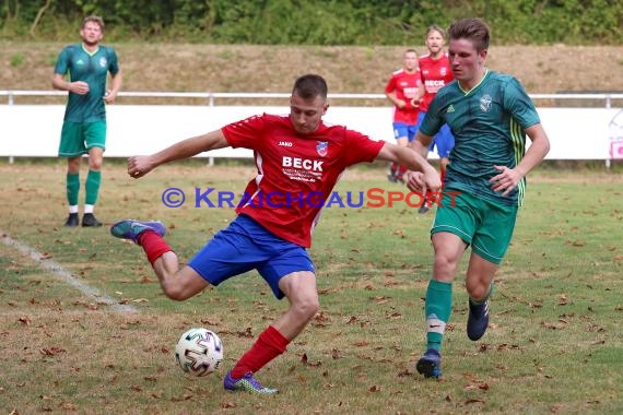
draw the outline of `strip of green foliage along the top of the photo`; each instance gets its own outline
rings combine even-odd
[[[431,24],[481,16],[498,45],[615,45],[619,0],[3,0],[0,39],[66,40],[87,14],[108,40],[405,45]]]

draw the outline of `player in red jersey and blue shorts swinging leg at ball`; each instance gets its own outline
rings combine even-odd
[[[254,374],[284,353],[319,308],[315,268],[306,248],[322,209],[318,200],[327,200],[346,167],[377,158],[397,162],[423,171],[423,191],[440,187],[435,168],[414,151],[373,141],[342,126],[325,124],[327,90],[321,76],[301,76],[292,91],[290,116],[250,117],[128,161],[128,174],[140,178],[162,164],[201,152],[226,146],[254,150],[258,174],[247,185],[245,194],[249,197],[237,206],[236,220],[183,269],[163,239],[166,229],[162,223],[126,220],[110,228],[113,236],[143,248],[163,292],[172,299],[188,299],[209,285],[251,270],[259,272],[277,298],[287,297],[285,313],[227,372],[225,390],[277,392],[262,387]],[[313,202],[307,198],[312,194]]]

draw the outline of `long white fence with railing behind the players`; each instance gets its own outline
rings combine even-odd
[[[0,91],[4,96],[66,95],[62,92]],[[215,98],[283,98],[290,94],[131,93],[124,96],[205,98],[208,105],[110,105],[107,107],[107,157],[150,154],[181,139],[215,130],[251,115],[287,114],[286,106],[215,106]],[[332,94],[325,120],[344,124],[375,140],[393,142],[391,108],[383,94]],[[538,99],[603,99],[603,108],[541,108],[552,150],[549,159],[623,158],[623,111],[611,108],[623,94],[540,94]],[[378,107],[341,106],[341,99],[379,99]],[[122,99],[119,99],[119,103]],[[0,156],[57,156],[64,105],[0,105]],[[380,104],[383,103],[383,104]],[[203,157],[250,157],[247,150],[222,149]],[[432,156],[434,156],[432,154]]]

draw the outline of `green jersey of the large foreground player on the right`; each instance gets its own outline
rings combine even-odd
[[[494,192],[489,182],[499,174],[494,165],[517,166],[526,153],[524,130],[541,122],[519,81],[487,70],[467,93],[452,81],[437,92],[420,128],[433,137],[445,122],[455,135],[446,188],[505,205],[521,205],[526,178],[507,197]]]

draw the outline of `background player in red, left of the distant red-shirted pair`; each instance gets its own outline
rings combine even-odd
[[[407,49],[402,58],[402,69],[393,72],[385,86],[385,96],[393,104],[393,137],[401,147],[405,147],[418,132],[418,105],[420,84],[418,52]],[[387,178],[389,181],[402,181],[407,167],[392,162]]]

